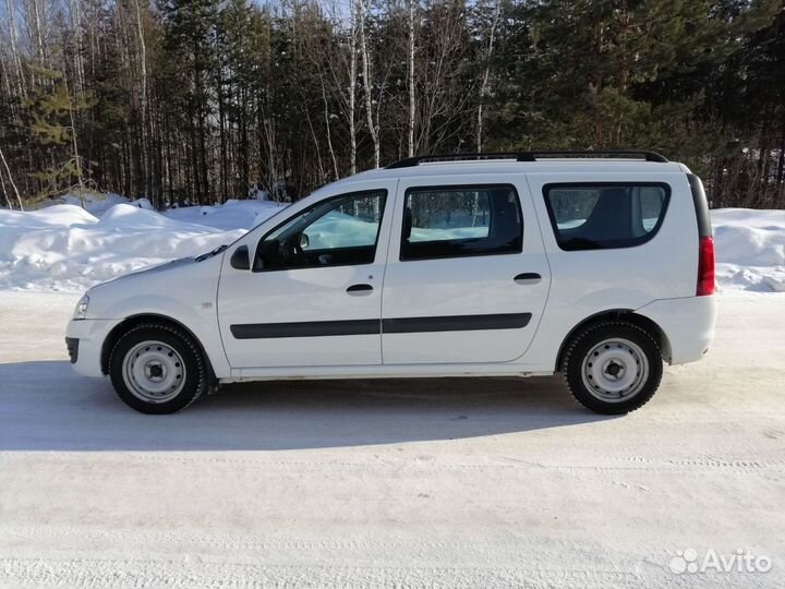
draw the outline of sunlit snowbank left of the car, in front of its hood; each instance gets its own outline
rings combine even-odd
[[[88,203],[89,212],[75,204],[0,209],[0,289],[82,291],[234,241],[280,211],[275,203],[246,201],[159,214],[149,203],[119,199],[107,199],[108,206]]]

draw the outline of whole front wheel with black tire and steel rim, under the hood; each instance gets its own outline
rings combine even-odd
[[[143,413],[173,413],[207,389],[207,366],[196,341],[184,330],[155,323],[131,328],[109,358],[118,396]]]

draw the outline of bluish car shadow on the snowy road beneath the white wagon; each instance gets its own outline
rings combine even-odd
[[[277,450],[460,440],[605,421],[560,380],[279,381],[173,416],[126,407],[68,362],[0,364],[0,450]]]

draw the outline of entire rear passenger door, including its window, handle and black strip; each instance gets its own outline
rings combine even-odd
[[[385,364],[506,362],[526,352],[551,272],[523,176],[401,179],[392,227]]]

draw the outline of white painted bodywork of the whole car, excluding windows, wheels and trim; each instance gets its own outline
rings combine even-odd
[[[689,170],[676,163],[570,159],[536,163],[421,164],[363,172],[324,187],[203,262],[178,261],[88,291],[87,317],[69,324],[78,338],[75,369],[99,376],[101,349],[129,317],[169,317],[193,333],[220,382],[264,378],[551,374],[566,338],[608,310],[636,311],[664,334],[671,363],[699,360],[711,342],[714,297],[696,297],[698,229]],[[652,181],[672,195],[657,235],[636,248],[559,249],[542,188],[548,182]],[[416,262],[399,260],[407,188],[512,184],[523,213],[523,252]],[[238,248],[254,252],[285,219],[323,199],[387,191],[373,264],[254,273],[231,267]],[[539,281],[517,285],[519,273]],[[367,283],[366,296],[346,292]],[[492,313],[531,313],[519,329],[283,337],[239,340],[237,323],[322,322]]]

